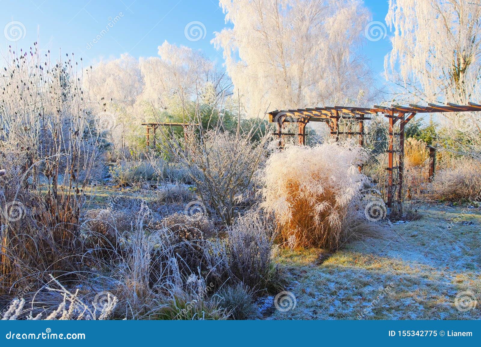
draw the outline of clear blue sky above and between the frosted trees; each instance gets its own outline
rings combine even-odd
[[[365,0],[365,4],[373,21],[384,23],[387,0]],[[9,24],[12,21],[20,22],[15,25],[22,32],[22,38],[15,42],[0,36],[2,55],[9,44],[25,49],[39,41],[43,49],[55,52],[62,48],[63,53],[74,52],[84,61],[94,63],[125,52],[134,57],[156,56],[157,47],[167,40],[202,49],[209,58],[222,61],[221,53],[210,43],[214,32],[226,26],[216,0],[0,0],[0,9],[3,33],[10,35],[8,25],[13,26]],[[191,22],[205,26],[204,38],[186,38],[184,31]],[[108,32],[102,34],[107,27]],[[101,38],[93,42],[97,36]],[[366,42],[364,51],[376,73],[382,72],[384,56],[390,48],[389,36]]]

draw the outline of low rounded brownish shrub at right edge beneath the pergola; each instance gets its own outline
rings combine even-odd
[[[432,192],[435,198],[448,201],[481,200],[481,162],[471,158],[453,160],[451,168],[435,173]]]

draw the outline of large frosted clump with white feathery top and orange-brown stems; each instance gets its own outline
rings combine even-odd
[[[264,208],[291,247],[338,248],[347,239],[350,208],[367,177],[358,165],[367,151],[354,142],[290,146],[266,164]]]

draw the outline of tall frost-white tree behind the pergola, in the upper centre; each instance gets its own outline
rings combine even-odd
[[[212,42],[223,50],[249,116],[349,103],[368,85],[358,50],[369,17],[361,1],[220,0],[220,6],[232,28]]]

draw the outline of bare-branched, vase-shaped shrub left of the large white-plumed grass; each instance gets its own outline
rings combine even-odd
[[[187,169],[210,212],[230,223],[236,214],[252,205],[253,178],[263,163],[267,137],[253,142],[251,133],[186,131],[186,150],[171,140],[173,156]]]

